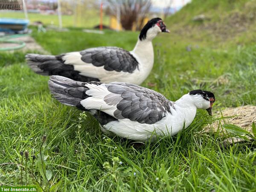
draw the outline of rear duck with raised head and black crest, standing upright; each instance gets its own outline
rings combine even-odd
[[[76,81],[113,81],[141,84],[154,64],[152,40],[169,32],[161,18],[153,18],[140,32],[132,51],[118,47],[96,47],[61,55],[27,54],[29,67],[44,76],[59,75]]]

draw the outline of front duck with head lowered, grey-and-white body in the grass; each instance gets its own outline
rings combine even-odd
[[[215,102],[214,94],[206,90],[192,90],[172,102],[154,90],[126,82],[81,82],[51,76],[48,85],[62,104],[91,113],[103,132],[141,142],[177,134],[192,123],[197,109],[212,115]]]

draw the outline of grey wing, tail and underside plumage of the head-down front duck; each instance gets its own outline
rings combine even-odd
[[[51,93],[58,101],[65,105],[76,106],[81,110],[87,110],[86,106],[82,106],[80,103],[83,99],[90,97],[86,94],[86,91],[89,90],[87,84],[107,87],[110,93],[104,97],[104,102],[117,108],[113,116],[99,111],[97,108],[91,110],[102,125],[125,118],[139,123],[154,124],[165,117],[167,112],[171,113],[173,102],[170,102],[160,93],[135,84],[119,82],[110,84],[82,83],[61,76],[51,76],[49,80]],[[102,93],[102,95],[104,94],[105,92]],[[95,110],[97,111],[95,112]]]

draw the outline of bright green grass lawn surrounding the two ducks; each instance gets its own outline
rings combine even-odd
[[[0,52],[0,164],[20,163],[20,151],[28,150],[27,166],[33,167],[37,178],[29,175],[28,183],[38,182],[46,191],[49,187],[52,191],[256,191],[255,149],[246,145],[221,149],[219,143],[228,135],[202,131],[216,111],[256,105],[255,34],[248,29],[223,40],[187,24],[191,32],[180,35],[180,25],[172,20],[166,22],[172,32],[153,41],[154,68],[142,85],[172,101],[189,90],[212,91],[216,98],[212,117],[198,110],[189,128],[175,137],[136,148],[120,137],[106,137],[92,116],[53,99],[49,77],[33,73],[25,53]],[[71,29],[35,30],[32,36],[47,51],[60,54],[98,46],[131,50],[138,34]],[[42,163],[43,135],[47,141]],[[21,185],[20,172],[16,165],[0,166],[0,184]],[[24,175],[23,171],[23,184]]]

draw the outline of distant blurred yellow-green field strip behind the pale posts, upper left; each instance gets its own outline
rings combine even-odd
[[[62,15],[62,26],[63,27],[84,27],[84,28],[92,28],[96,25],[99,25],[99,13],[98,10],[86,10],[86,14],[81,14],[81,16],[75,17],[74,15]],[[8,12],[8,11],[1,11],[0,17],[7,17],[7,18],[20,18],[25,19],[25,15],[23,12]],[[57,25],[58,22],[58,15],[42,15],[38,13],[28,13],[30,24],[35,21],[41,21],[44,25]],[[103,24],[109,25],[109,17],[107,15],[103,16]]]

